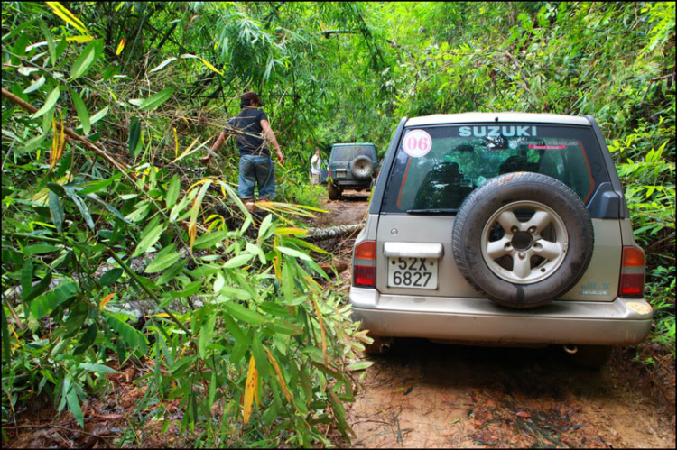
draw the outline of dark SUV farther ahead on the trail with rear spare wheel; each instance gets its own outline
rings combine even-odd
[[[343,189],[371,188],[378,169],[373,143],[335,143],[329,156],[329,199],[336,200]]]

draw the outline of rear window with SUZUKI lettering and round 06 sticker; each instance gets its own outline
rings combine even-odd
[[[412,135],[422,137],[421,145],[406,152],[407,135],[416,130],[423,132]],[[471,124],[408,128],[395,155],[382,212],[440,209],[454,213],[487,179],[516,171],[559,179],[587,204],[595,188],[608,181],[604,167],[589,127]]]

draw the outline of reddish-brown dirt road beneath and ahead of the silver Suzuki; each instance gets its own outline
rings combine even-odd
[[[348,193],[325,207],[320,226],[358,223],[368,205]],[[342,243],[341,259],[349,261],[352,243]],[[349,284],[349,271],[341,275]],[[398,339],[390,354],[368,358],[375,363],[347,408],[352,445],[675,447],[674,391],[672,405],[649,395],[643,372],[627,370],[629,352],[617,351],[600,372],[575,369],[563,356],[558,347]]]

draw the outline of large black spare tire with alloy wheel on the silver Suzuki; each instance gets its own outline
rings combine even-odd
[[[513,172],[463,202],[452,247],[459,271],[499,305],[533,308],[561,297],[588,268],[595,244],[580,197],[557,179]]]

